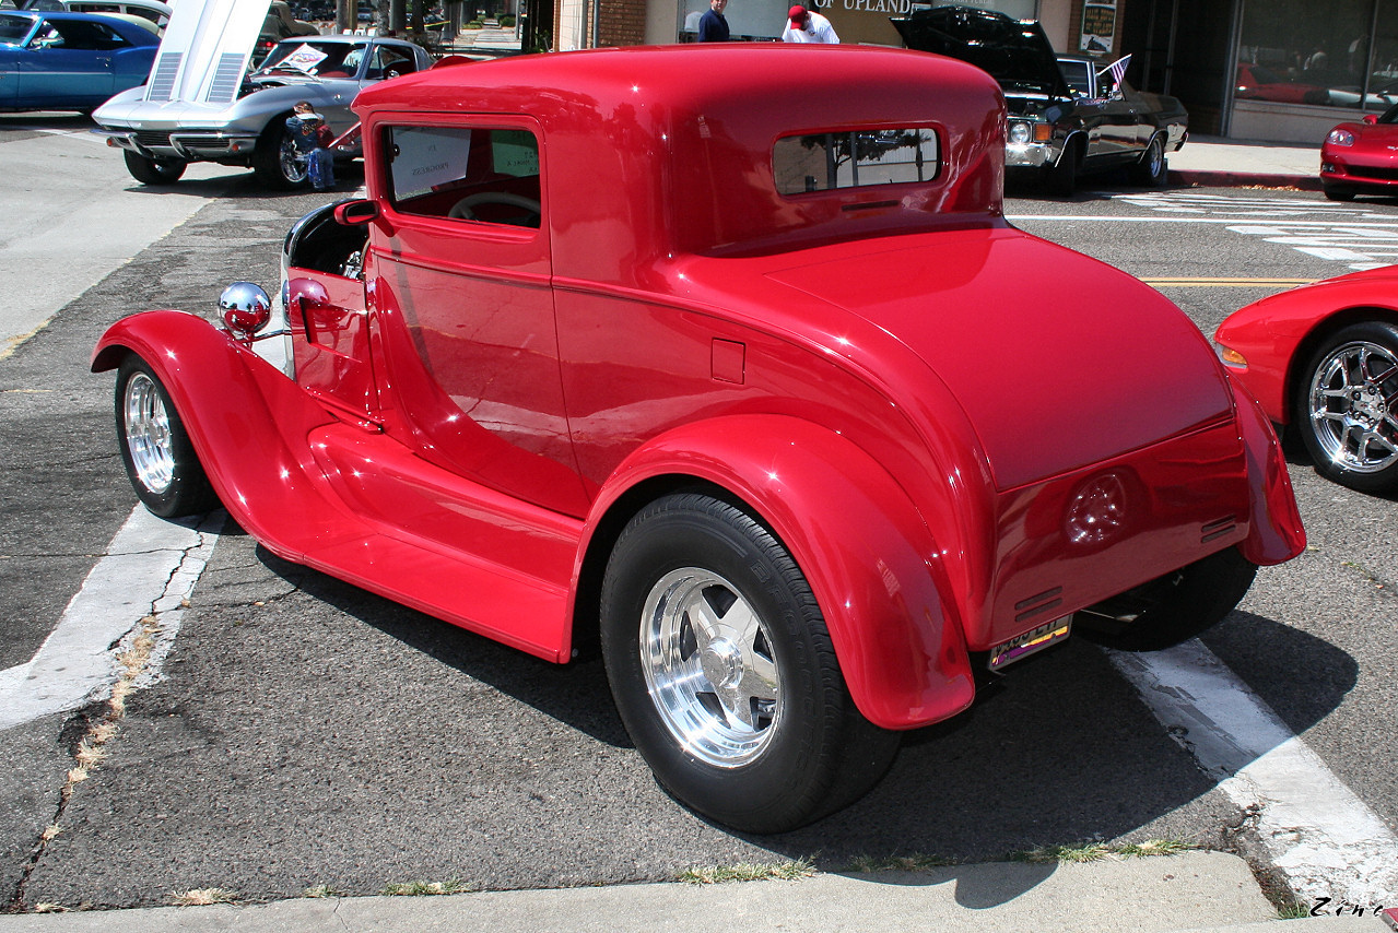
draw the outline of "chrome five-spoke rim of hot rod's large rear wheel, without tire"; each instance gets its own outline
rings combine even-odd
[[[737,588],[684,567],[646,599],[642,669],[670,733],[720,768],[748,764],[776,735],[781,679],[768,627]]]

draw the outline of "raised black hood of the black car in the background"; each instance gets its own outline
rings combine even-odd
[[[895,17],[909,49],[969,61],[990,73],[1005,94],[1067,98],[1068,82],[1043,27],[974,7],[937,7]]]

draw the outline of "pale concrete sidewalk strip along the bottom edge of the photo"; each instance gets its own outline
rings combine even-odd
[[[1247,865],[1220,852],[1089,865],[995,862],[797,881],[625,884],[439,897],[301,898],[252,906],[0,916],[0,933],[1383,933],[1373,915],[1278,920]]]

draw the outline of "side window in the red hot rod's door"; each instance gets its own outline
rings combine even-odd
[[[384,130],[389,197],[403,214],[538,229],[538,140],[528,130]]]

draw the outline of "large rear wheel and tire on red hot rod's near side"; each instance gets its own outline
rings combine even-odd
[[[863,796],[899,736],[870,723],[781,543],[700,494],[643,508],[607,566],[612,696],[665,789],[748,832],[794,830]]]

